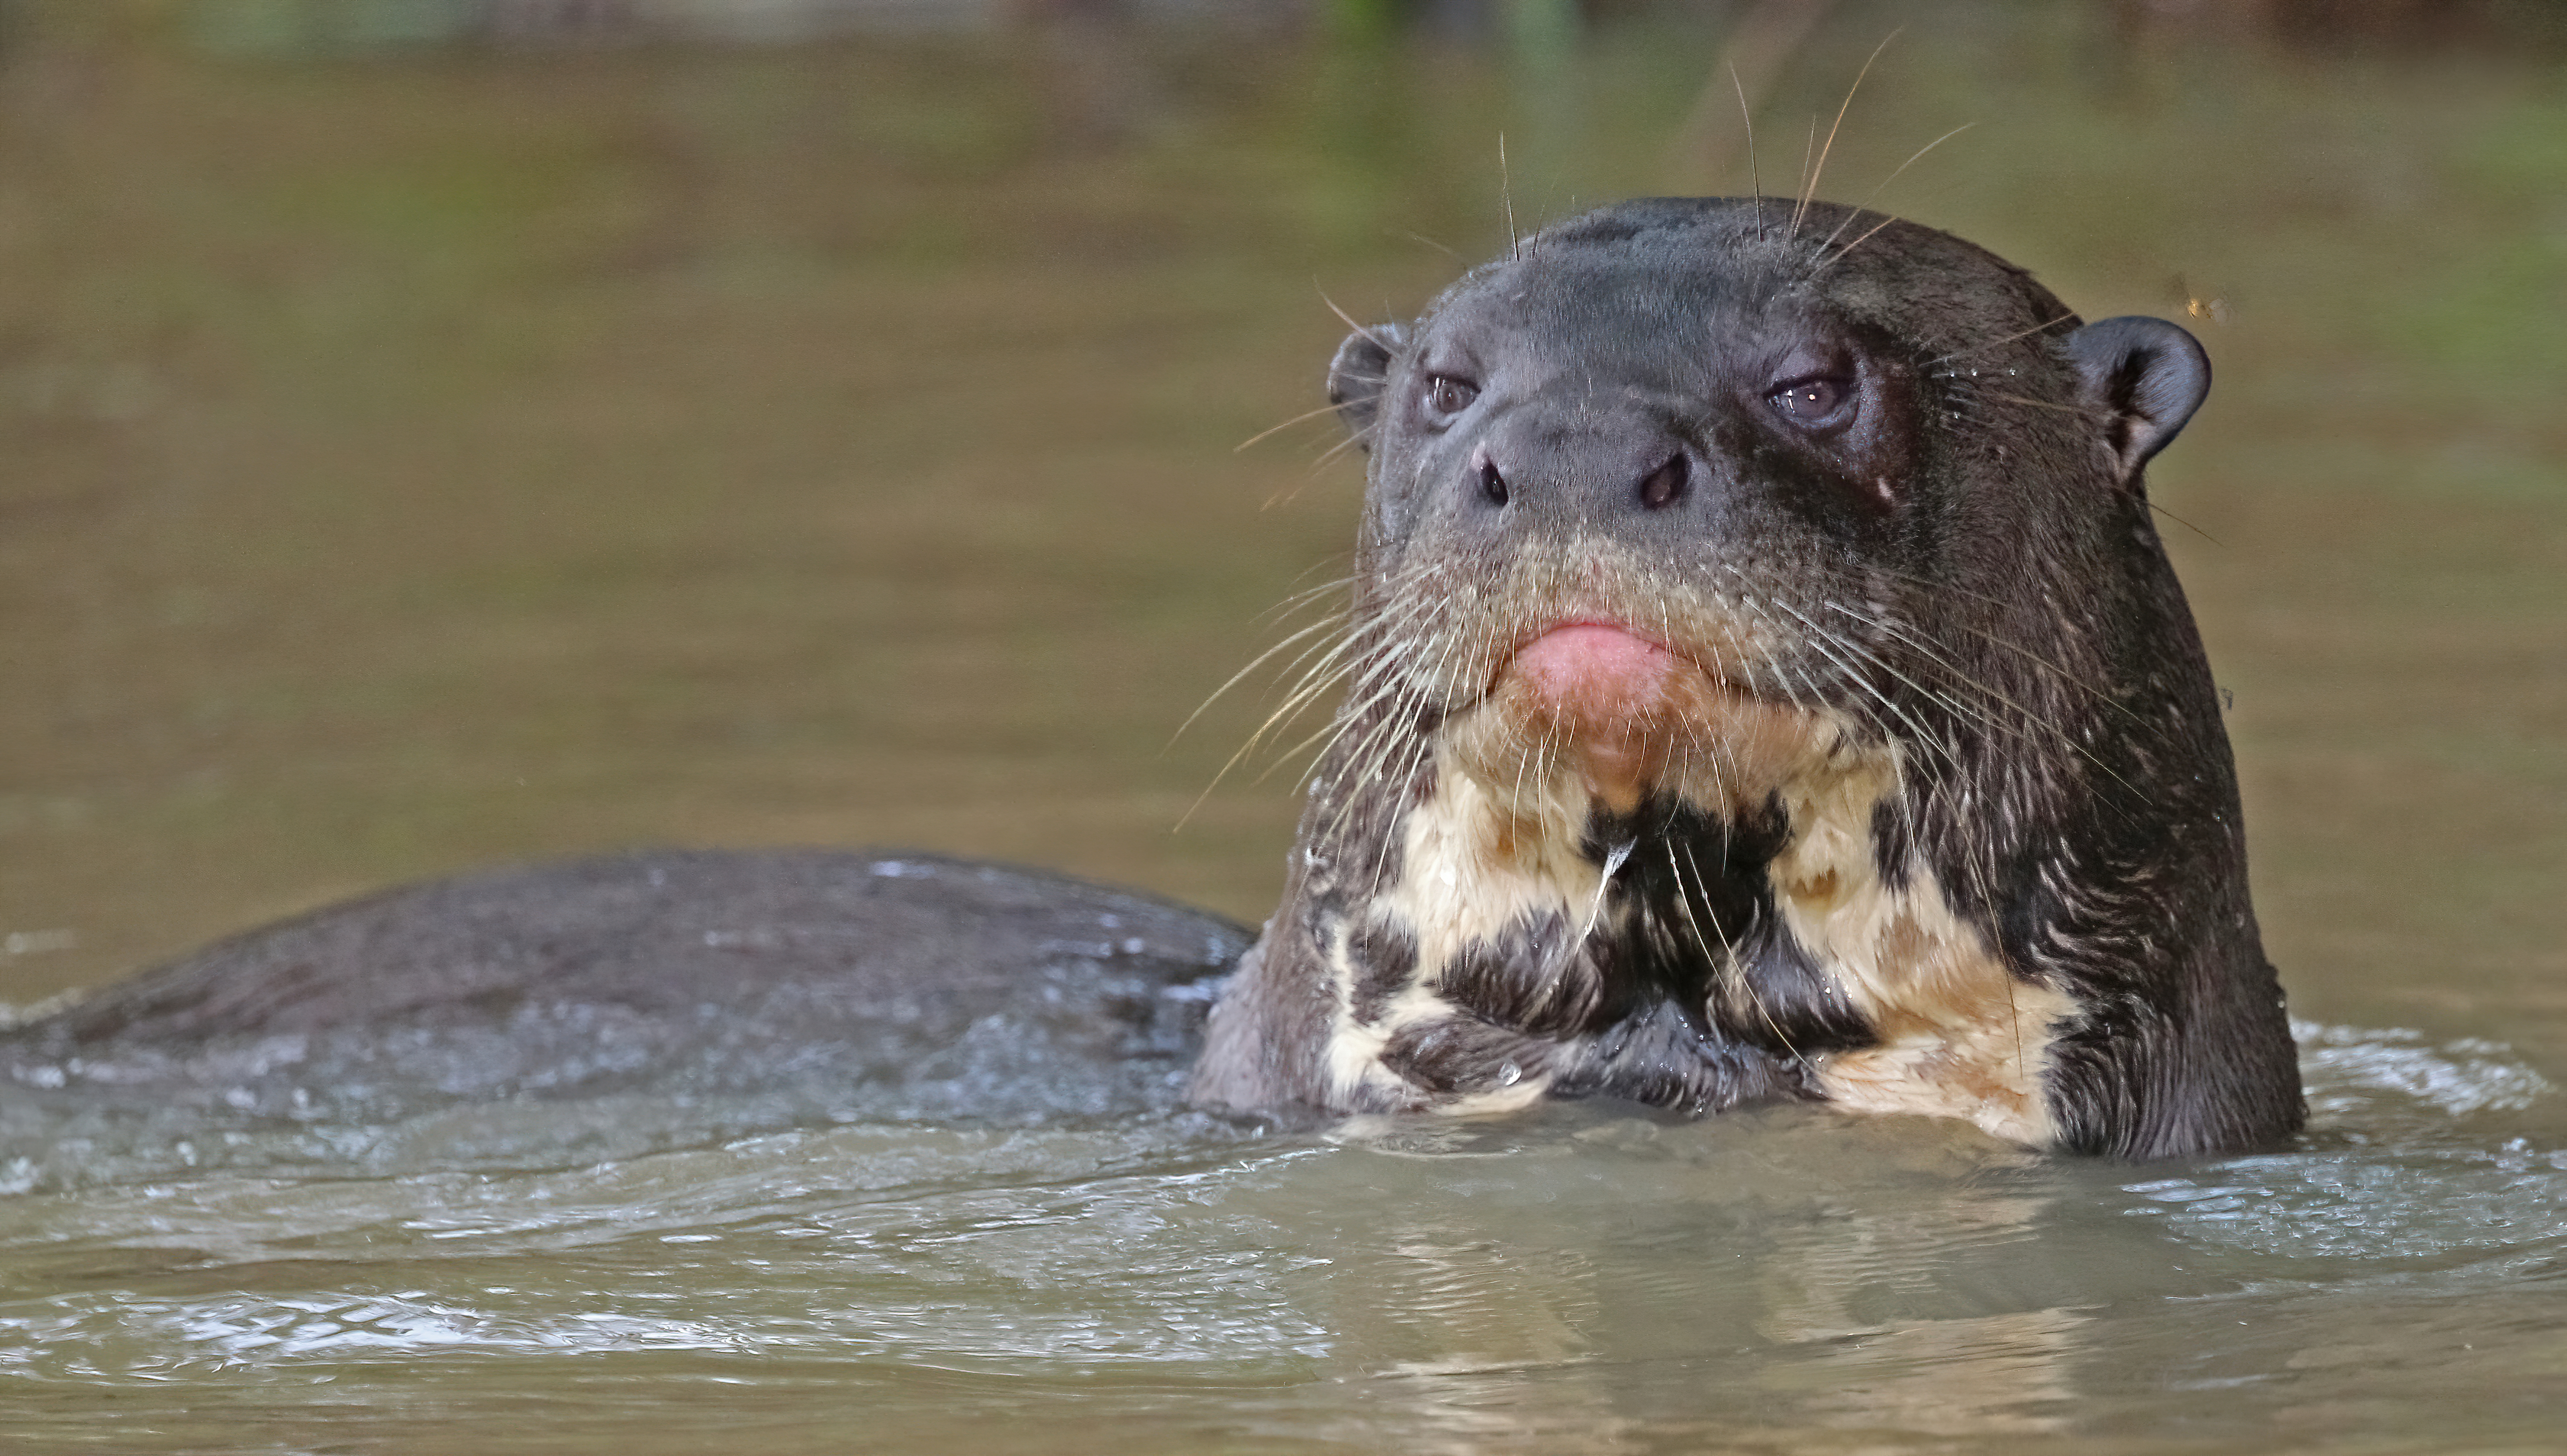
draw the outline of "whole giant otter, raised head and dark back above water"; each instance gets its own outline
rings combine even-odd
[[[2079,326],[1923,226],[1604,208],[1335,360],[1371,452],[1353,680],[1209,1035],[1248,945],[1212,917],[952,860],[652,855],[226,942],[0,1032],[0,1112],[773,1084],[783,1117],[1058,1117],[1183,1084],[1286,1117],[1810,1099],[2084,1153],[2272,1143],[2292,1043],[2141,478],[2205,388],[2182,329]]]

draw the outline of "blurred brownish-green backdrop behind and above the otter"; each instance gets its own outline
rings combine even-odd
[[[1171,734],[1343,570],[1335,426],[1235,449],[1330,303],[1789,193],[1889,39],[1823,195],[2215,357],[2154,480],[2297,1007],[2567,1043],[2552,5],[0,15],[0,999],[644,842],[1263,917],[1260,688]]]

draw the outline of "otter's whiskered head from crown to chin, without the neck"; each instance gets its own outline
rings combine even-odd
[[[1923,727],[1905,698],[1987,629],[1951,619],[2030,555],[2110,555],[2205,388],[2182,329],[2077,326],[1946,234],[1625,203],[1340,347],[1358,621],[1512,811],[1735,817]]]

